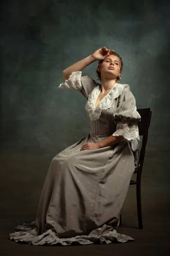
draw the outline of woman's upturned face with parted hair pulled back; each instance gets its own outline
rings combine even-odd
[[[116,55],[106,57],[100,66],[101,78],[116,79],[120,76],[120,60]]]

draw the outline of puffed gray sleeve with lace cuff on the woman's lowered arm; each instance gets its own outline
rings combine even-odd
[[[112,135],[122,135],[128,142],[140,140],[137,122],[141,120],[141,116],[136,111],[135,97],[128,88],[124,88],[119,97],[119,106],[112,116],[113,122],[116,123],[116,131]]]

